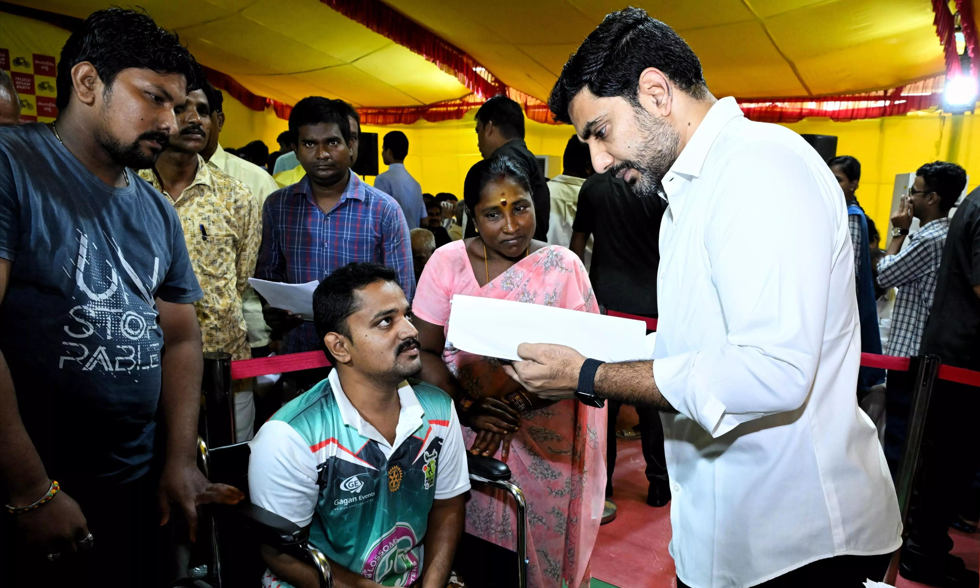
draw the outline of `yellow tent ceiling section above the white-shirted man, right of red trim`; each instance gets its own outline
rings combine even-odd
[[[943,73],[929,0],[386,0],[537,98],[626,4],[673,26],[718,96],[825,95]]]

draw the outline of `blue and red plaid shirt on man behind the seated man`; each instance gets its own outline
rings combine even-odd
[[[255,276],[301,284],[351,262],[374,262],[398,272],[411,301],[416,290],[412,241],[402,208],[391,197],[350,174],[340,201],[323,214],[310,178],[272,192],[262,212],[262,249]],[[281,353],[319,349],[312,321],[288,333]]]

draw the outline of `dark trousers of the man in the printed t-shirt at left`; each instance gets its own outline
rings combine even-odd
[[[94,538],[92,548],[49,562],[45,554],[26,548],[15,533],[12,517],[5,514],[0,523],[0,569],[5,574],[0,584],[66,588],[164,585],[165,527],[160,526],[156,476],[146,474],[126,484],[71,478],[58,482],[81,507]],[[172,516],[180,516],[179,509]]]

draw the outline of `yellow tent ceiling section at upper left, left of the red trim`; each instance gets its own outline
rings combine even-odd
[[[128,2],[17,0],[85,18]],[[469,93],[455,75],[319,0],[140,0],[204,65],[286,104],[321,95],[355,106],[418,106]]]

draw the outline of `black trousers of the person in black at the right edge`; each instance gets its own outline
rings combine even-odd
[[[926,417],[903,558],[939,564],[953,549],[949,525],[980,466],[980,388],[938,380]]]

